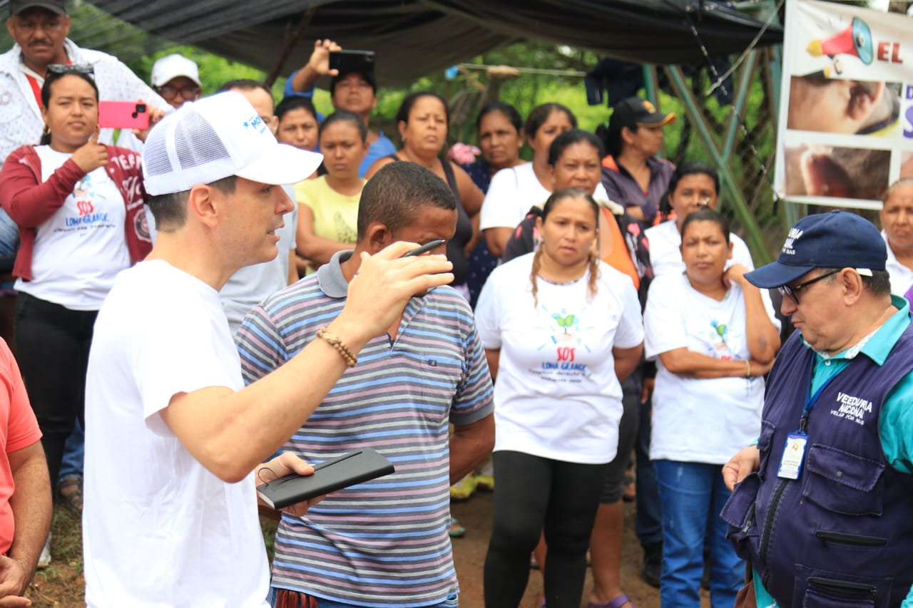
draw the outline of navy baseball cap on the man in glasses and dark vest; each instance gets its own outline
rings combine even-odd
[[[885,239],[866,218],[847,211],[803,217],[792,226],[776,262],[745,274],[755,287],[778,288],[813,268],[884,270]],[[867,273],[871,275],[871,272]]]

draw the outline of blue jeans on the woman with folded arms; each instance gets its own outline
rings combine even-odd
[[[708,517],[718,514],[729,498],[721,466],[672,460],[654,460],[653,466],[663,505],[663,608],[700,605],[705,536],[710,546],[710,605],[732,606],[745,579],[745,562],[726,540],[723,520]]]

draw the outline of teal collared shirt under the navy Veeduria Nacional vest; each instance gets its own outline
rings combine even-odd
[[[891,296],[891,304],[897,308],[897,312],[869,336],[862,347],[858,345],[850,347],[833,357],[822,355],[820,352],[815,354],[812,393],[817,391],[828,378],[845,370],[846,366],[860,354],[866,355],[878,365],[885,363],[887,355],[910,324],[910,305],[907,299]],[[804,339],[803,344],[806,348],[812,348]],[[887,464],[908,474],[913,474],[913,406],[911,404],[913,404],[913,372],[904,376],[891,389],[891,392],[887,393],[885,404],[881,406],[881,416],[878,418],[878,435],[881,437],[881,447]],[[758,608],[772,608],[777,605],[771,594],[761,585],[758,571],[754,571],[754,592],[758,600]],[[900,608],[913,608],[913,589],[910,589],[907,599],[900,604]]]

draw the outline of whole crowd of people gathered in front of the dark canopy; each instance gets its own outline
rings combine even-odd
[[[405,97],[398,145],[373,131],[373,67],[331,68],[331,40],[278,104],[244,79],[202,97],[188,58],[147,86],[68,39],[61,0],[9,5],[0,602],[27,605],[56,500],[90,606],[452,608],[450,501],[487,487],[487,606],[519,606],[534,555],[542,605],[635,608],[633,469],[664,607],[702,579],[715,608],[913,605],[913,181],[880,234],[810,215],[755,269],[647,100],[596,133],[496,101],[460,164],[435,92]],[[100,128],[104,100],[149,127]],[[257,498],[363,447],[394,473]]]

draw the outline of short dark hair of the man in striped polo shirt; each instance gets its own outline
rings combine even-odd
[[[432,205],[456,211],[450,186],[430,169],[415,162],[389,162],[374,173],[362,190],[358,204],[358,241],[367,236],[368,226],[380,222],[394,234],[415,224],[420,210]]]

